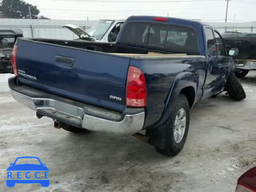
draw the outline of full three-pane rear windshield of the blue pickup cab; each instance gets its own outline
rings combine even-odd
[[[176,25],[130,22],[122,32],[120,43],[198,53],[198,38],[194,30]]]

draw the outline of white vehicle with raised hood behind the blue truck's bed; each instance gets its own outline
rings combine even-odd
[[[79,38],[76,40],[115,42],[125,20],[98,20],[87,32],[78,26],[66,24],[62,28],[68,28]]]

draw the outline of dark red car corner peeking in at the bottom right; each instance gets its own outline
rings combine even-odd
[[[237,182],[236,192],[256,192],[256,167],[240,176]]]

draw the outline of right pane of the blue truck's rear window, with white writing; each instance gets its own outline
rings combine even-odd
[[[198,53],[198,38],[192,28],[170,25],[166,48],[178,52]]]

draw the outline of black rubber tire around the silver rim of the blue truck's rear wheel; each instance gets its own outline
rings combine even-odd
[[[176,115],[178,114],[180,109],[184,109],[186,112],[186,126],[185,132],[182,140],[177,143],[174,140],[174,122],[176,119]],[[188,135],[189,128],[189,105],[188,99],[183,94],[180,94],[178,102],[173,108],[173,112],[166,122],[166,124],[162,128],[157,128],[155,132],[155,136],[153,136],[154,146],[156,150],[166,156],[176,156],[183,148],[186,138]]]

